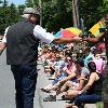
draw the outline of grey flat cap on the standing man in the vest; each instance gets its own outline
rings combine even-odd
[[[27,14],[36,14],[36,15],[40,15],[39,11],[37,9],[33,8],[26,8],[23,12],[22,17],[26,17]]]

